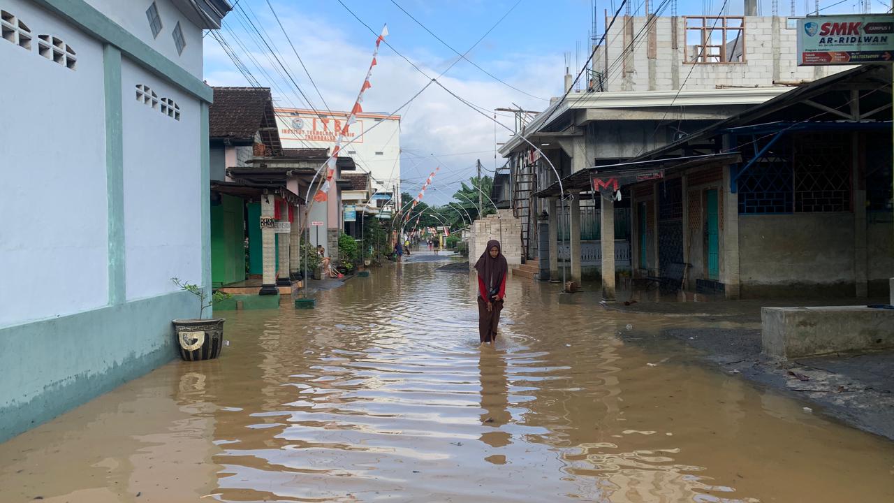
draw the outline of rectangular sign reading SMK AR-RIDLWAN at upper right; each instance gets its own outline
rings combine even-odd
[[[861,64],[894,60],[894,16],[813,16],[797,20],[797,64]]]

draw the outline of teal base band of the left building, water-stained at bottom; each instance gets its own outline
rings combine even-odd
[[[170,362],[171,320],[197,316],[176,292],[0,328],[0,442]]]

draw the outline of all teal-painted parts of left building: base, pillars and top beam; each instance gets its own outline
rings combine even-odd
[[[177,354],[171,320],[198,316],[198,299],[188,292],[125,301],[122,99],[132,99],[132,84],[122,83],[122,55],[202,101],[200,156],[195,166],[183,166],[200,175],[201,192],[196,195],[201,209],[184,217],[201,221],[197,239],[202,245],[202,286],[210,289],[212,281],[207,106],[213,98],[211,89],[84,0],[35,3],[71,23],[73,29],[105,42],[106,127],[105,132],[97,132],[97,141],[105,142],[106,154],[109,305],[0,328],[0,442],[170,362]],[[123,86],[127,94],[122,95]]]

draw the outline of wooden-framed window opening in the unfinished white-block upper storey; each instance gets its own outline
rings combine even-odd
[[[745,18],[685,16],[686,63],[744,64]]]

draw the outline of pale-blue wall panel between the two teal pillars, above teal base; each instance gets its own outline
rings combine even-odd
[[[136,99],[137,84],[173,98],[180,120]],[[122,59],[124,243],[127,299],[177,290],[171,277],[200,283],[199,104]],[[205,140],[207,141],[207,140]]]

